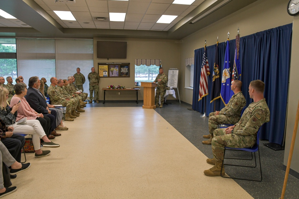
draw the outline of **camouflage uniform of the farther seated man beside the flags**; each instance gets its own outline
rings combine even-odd
[[[246,105],[246,99],[242,92],[234,94],[229,100],[226,107],[219,111],[219,115],[215,115],[216,112],[209,114],[209,132],[213,137],[213,132],[219,124],[236,124],[241,117],[242,109]]]

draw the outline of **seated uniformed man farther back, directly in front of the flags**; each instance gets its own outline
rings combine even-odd
[[[228,101],[226,107],[220,111],[211,112],[209,114],[209,135],[204,135],[204,138],[209,138],[207,141],[202,141],[202,144],[211,144],[213,132],[219,124],[236,124],[241,117],[242,109],[246,105],[246,99],[241,91],[242,82],[234,80],[231,83],[231,90],[234,95]]]

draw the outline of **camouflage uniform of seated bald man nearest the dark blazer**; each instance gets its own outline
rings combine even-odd
[[[72,110],[75,108],[75,104],[70,100],[66,100],[61,94],[57,87],[52,85],[48,88],[48,95],[50,97],[51,104],[61,104],[62,106],[66,107],[65,114],[71,115]]]

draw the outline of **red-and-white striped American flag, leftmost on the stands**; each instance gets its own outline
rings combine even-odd
[[[204,55],[202,57],[202,69],[200,72],[200,83],[199,83],[199,97],[198,99],[201,100],[203,97],[208,95],[208,75],[210,75],[210,68],[207,56],[207,45],[205,45]],[[198,100],[198,101],[199,101]]]

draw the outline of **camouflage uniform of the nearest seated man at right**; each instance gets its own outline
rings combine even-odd
[[[212,152],[216,162],[223,160],[224,147],[244,148],[254,146],[257,131],[265,122],[270,121],[270,111],[265,98],[249,104],[233,133],[225,134],[225,128],[216,129],[212,139]]]

